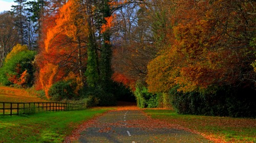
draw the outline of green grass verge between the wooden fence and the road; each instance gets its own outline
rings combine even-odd
[[[79,124],[109,109],[44,112],[26,117],[2,116],[0,142],[62,142]]]

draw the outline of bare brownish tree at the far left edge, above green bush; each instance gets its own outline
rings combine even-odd
[[[14,17],[9,12],[0,13],[0,67],[12,47],[18,43],[18,33],[14,25]]]

